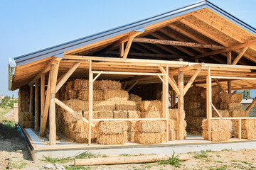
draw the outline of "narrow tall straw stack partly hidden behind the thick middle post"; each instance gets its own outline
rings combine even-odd
[[[178,130],[178,109],[169,109],[169,140],[177,140],[177,130]],[[181,116],[182,118],[182,116]],[[181,122],[183,123],[181,133],[183,139],[186,139],[186,120],[182,118]]]

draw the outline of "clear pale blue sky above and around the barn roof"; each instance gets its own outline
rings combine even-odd
[[[196,0],[0,1],[0,94],[8,91],[8,62],[19,55],[98,33]],[[256,1],[213,0],[213,4],[256,27]],[[255,96],[255,95],[251,95]]]

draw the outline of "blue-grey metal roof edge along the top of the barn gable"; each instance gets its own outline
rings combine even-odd
[[[175,18],[176,16],[181,16],[183,14],[190,13],[192,11],[197,11],[198,9],[201,9],[201,8],[210,8],[212,11],[215,11],[216,13],[227,18],[228,20],[233,21],[238,26],[250,31],[253,34],[256,34],[256,29],[253,28],[252,26],[249,26],[247,25],[247,23],[240,21],[238,18],[235,18],[234,16],[232,16],[230,13],[227,13],[223,9],[219,8],[218,6],[215,6],[214,4],[210,3],[210,1],[204,0],[204,1],[198,1],[195,4],[191,4],[183,8],[178,8],[176,10],[169,11],[166,13],[161,13],[159,15],[152,16],[150,18],[145,18],[141,21],[129,23],[127,25],[113,28],[111,30],[105,30],[101,33],[89,35],[87,37],[73,40],[70,42],[65,42],[63,44],[55,45],[53,47],[48,47],[46,49],[39,50],[36,52],[31,52],[27,55],[21,55],[19,57],[15,57],[14,60],[16,61],[17,65],[23,65],[23,64],[28,64],[30,62],[41,60],[43,58],[50,57],[50,56],[63,57],[63,52],[66,52],[68,50],[73,50],[75,48],[82,47],[100,40],[105,40],[107,38],[112,38],[114,36],[121,35],[123,33],[128,33],[130,31],[142,30],[144,29],[144,27],[150,26],[154,23],[166,21],[170,18]]]

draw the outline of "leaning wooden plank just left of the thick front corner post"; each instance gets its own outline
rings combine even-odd
[[[53,67],[50,69],[50,74],[48,78],[48,86],[46,90],[46,101],[44,103],[44,108],[43,108],[43,114],[41,114],[41,123],[40,123],[40,136],[44,137],[46,133],[46,123],[48,119],[48,111],[49,111],[49,106],[50,106],[50,81],[53,77]]]

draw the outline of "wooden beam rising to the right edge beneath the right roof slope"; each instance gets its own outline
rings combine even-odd
[[[207,57],[207,56],[210,56],[210,55],[218,55],[218,54],[223,53],[223,52],[234,51],[234,50],[238,50],[240,48],[252,47],[252,46],[255,46],[255,45],[256,45],[256,41],[254,40],[254,41],[242,43],[240,45],[234,45],[234,46],[231,46],[231,47],[226,47],[223,50],[215,50],[213,52],[207,52],[205,54],[196,55],[194,58],[197,59],[197,58]]]

